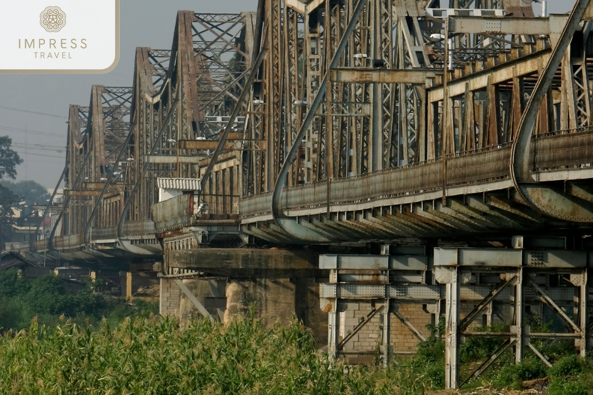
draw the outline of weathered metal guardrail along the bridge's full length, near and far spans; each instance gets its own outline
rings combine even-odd
[[[509,176],[510,144],[487,147],[471,153],[459,153],[447,160],[447,186],[456,187],[504,179]],[[554,131],[534,136],[531,140],[531,163],[538,171],[547,169],[592,166],[593,130],[591,128]],[[330,204],[355,204],[382,198],[414,195],[442,188],[441,159],[384,169],[365,175],[333,179]],[[283,210],[299,210],[327,206],[327,182],[297,185],[282,192]],[[152,206],[154,220],[125,224],[126,236],[154,237],[157,232],[191,226],[199,207],[197,196],[180,195]],[[253,195],[239,202],[241,218],[257,217],[272,212],[272,193]],[[116,227],[93,228],[91,240],[117,239]],[[46,250],[47,240],[35,242],[37,251]],[[56,236],[54,249],[82,246],[82,235]]]

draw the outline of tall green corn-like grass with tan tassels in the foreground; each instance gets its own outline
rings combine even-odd
[[[412,394],[430,381],[409,363],[331,363],[297,322],[266,328],[253,317],[183,329],[155,316],[100,330],[34,321],[0,339],[0,363],[7,394]]]

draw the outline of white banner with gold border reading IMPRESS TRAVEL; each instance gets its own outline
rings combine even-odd
[[[119,60],[119,0],[5,2],[0,73],[107,73]]]

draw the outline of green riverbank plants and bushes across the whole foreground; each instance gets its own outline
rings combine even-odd
[[[227,326],[209,320],[180,326],[158,316],[156,303],[130,304],[96,289],[89,283],[68,293],[53,275],[0,272],[0,394],[413,395],[445,385],[443,320],[428,328],[432,336],[413,357],[394,356],[387,368],[346,366],[318,351],[296,320],[266,327],[251,314]],[[506,332],[503,325],[474,330]],[[467,337],[460,345],[462,381],[503,341]],[[576,357],[570,341],[533,344],[551,368],[534,355],[514,364],[509,348],[461,392],[593,395],[593,359]]]

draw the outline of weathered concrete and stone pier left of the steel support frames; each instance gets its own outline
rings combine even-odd
[[[327,343],[327,317],[319,284],[328,271],[318,254],[283,249],[202,248],[167,251],[161,275],[160,312],[182,323],[206,316],[224,323],[254,309],[267,325],[293,317]]]

